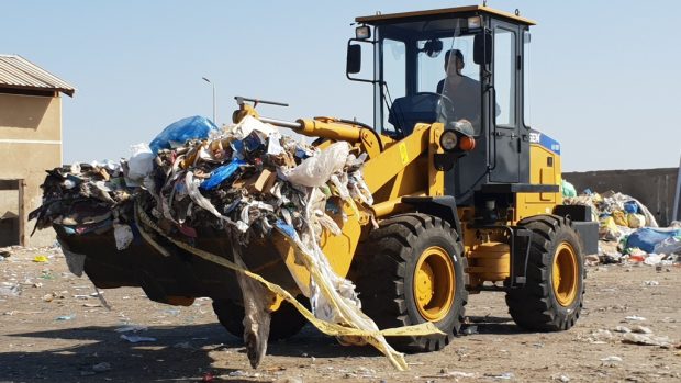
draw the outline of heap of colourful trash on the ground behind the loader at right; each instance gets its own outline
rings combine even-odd
[[[577,195],[574,187],[565,180],[562,190],[566,204],[591,206],[592,218],[599,222],[598,262],[650,266],[681,262],[681,223],[658,227],[643,203],[623,193],[585,190]]]

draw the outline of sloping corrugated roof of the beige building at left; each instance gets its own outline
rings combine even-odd
[[[74,97],[76,88],[19,55],[0,55],[0,88],[55,90]]]

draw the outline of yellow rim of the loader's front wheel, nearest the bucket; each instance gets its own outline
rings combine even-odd
[[[451,308],[455,291],[451,257],[442,247],[428,247],[418,257],[414,273],[414,301],[421,316],[431,322],[445,318]]]

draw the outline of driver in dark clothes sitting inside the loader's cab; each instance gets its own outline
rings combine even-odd
[[[466,119],[479,132],[482,98],[480,82],[461,75],[464,54],[459,49],[450,49],[445,54],[445,72],[447,77],[437,83],[437,93],[454,103],[454,120]]]

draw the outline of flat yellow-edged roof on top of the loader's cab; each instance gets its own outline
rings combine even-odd
[[[488,13],[495,16],[502,16],[504,19],[509,19],[518,24],[525,25],[536,25],[536,22],[529,19],[521,18],[520,15],[515,15],[513,13],[495,10],[493,8],[484,7],[484,5],[469,5],[469,7],[456,7],[456,8],[444,8],[444,9],[434,9],[426,11],[414,11],[414,12],[401,12],[401,13],[389,13],[389,14],[375,14],[370,16],[360,16],[356,18],[355,21],[364,24],[384,24],[387,22],[395,22],[395,21],[406,21],[408,19],[417,19],[423,16],[453,16],[461,13]]]

